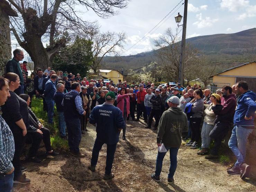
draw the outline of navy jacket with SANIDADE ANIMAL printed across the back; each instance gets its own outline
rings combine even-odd
[[[97,139],[110,145],[119,141],[118,129],[125,127],[122,111],[107,102],[93,108],[89,122],[96,124]]]

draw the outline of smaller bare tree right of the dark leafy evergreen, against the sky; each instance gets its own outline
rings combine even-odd
[[[103,57],[106,54],[111,54],[114,56],[119,56],[120,52],[124,48],[124,43],[126,40],[126,34],[124,32],[115,33],[115,32],[106,32],[99,33],[89,33],[88,39],[93,42],[92,45],[92,54],[93,60],[91,68],[94,74],[97,74],[102,65]]]

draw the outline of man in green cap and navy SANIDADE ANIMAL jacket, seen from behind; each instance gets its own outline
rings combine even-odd
[[[89,169],[93,172],[95,171],[99,152],[102,145],[106,143],[107,160],[104,180],[112,179],[115,176],[111,173],[111,168],[114,161],[117,143],[119,141],[120,131],[125,127],[122,111],[113,105],[115,98],[115,93],[112,91],[108,92],[106,94],[106,102],[93,108],[89,120],[94,126],[97,125],[97,137],[92,149],[91,165],[89,166]]]

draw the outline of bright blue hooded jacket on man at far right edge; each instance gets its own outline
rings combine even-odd
[[[256,94],[248,90],[237,98],[237,109],[234,115],[234,124],[245,128],[254,128],[254,113],[256,111]],[[250,120],[246,117],[252,116]]]

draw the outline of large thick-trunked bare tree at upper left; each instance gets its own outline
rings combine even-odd
[[[107,18],[118,13],[117,9],[127,7],[128,0],[9,0],[18,12],[11,17],[11,30],[18,44],[25,49],[37,66],[51,66],[56,52],[65,47],[62,34],[88,33],[97,30],[96,22],[80,19],[77,6],[93,10],[98,16]],[[44,43],[48,46],[45,48]]]

